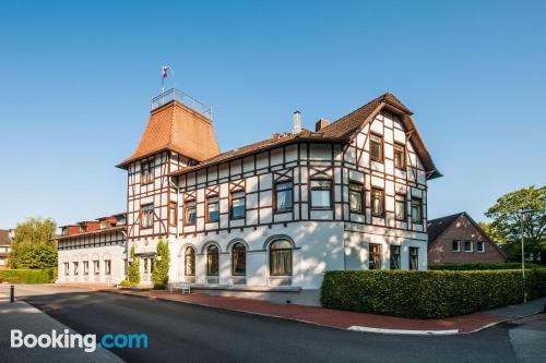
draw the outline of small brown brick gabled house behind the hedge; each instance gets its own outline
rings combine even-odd
[[[428,263],[505,262],[499,246],[466,214],[428,221]]]

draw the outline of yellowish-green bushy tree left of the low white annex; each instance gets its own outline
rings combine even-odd
[[[54,241],[57,223],[52,219],[31,218],[19,223],[11,242],[8,264],[11,268],[57,267]]]

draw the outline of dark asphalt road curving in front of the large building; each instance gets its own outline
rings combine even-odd
[[[463,336],[388,336],[107,292],[52,287],[19,292],[81,334],[147,334],[149,349],[112,350],[129,362],[498,363],[545,362],[546,356],[539,351],[546,346],[544,317],[532,323],[533,343],[526,331],[514,334],[529,328],[525,322]]]

